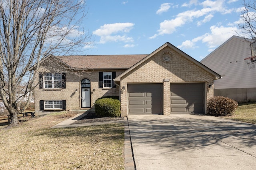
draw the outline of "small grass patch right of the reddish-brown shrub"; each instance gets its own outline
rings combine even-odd
[[[224,117],[256,124],[256,102],[238,104],[232,116]]]

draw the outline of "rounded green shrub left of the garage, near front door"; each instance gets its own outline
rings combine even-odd
[[[120,117],[120,101],[113,98],[99,98],[94,104],[97,115],[103,117]]]

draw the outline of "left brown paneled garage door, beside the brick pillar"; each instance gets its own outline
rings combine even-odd
[[[162,114],[162,84],[128,84],[128,114]]]

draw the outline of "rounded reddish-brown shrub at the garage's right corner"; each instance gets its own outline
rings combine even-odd
[[[223,96],[214,96],[207,101],[207,113],[213,116],[232,115],[238,103]]]

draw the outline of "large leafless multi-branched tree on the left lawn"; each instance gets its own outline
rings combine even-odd
[[[11,126],[19,123],[19,101],[32,97],[44,58],[84,45],[87,37],[79,27],[84,12],[83,0],[0,0],[0,98]]]

